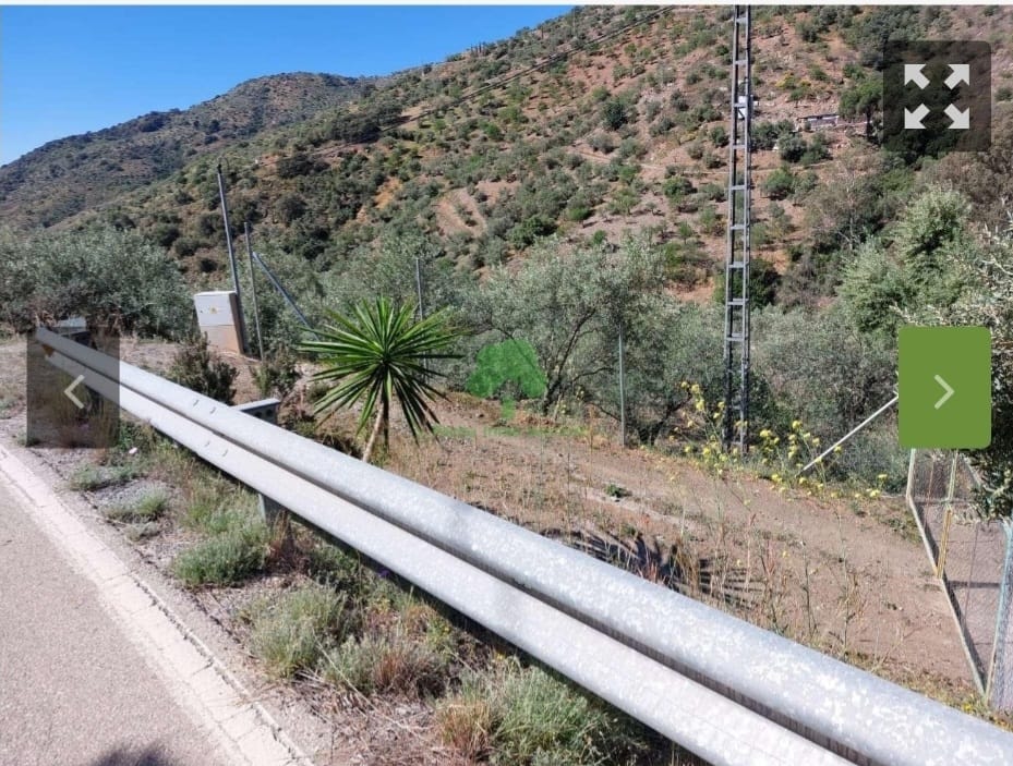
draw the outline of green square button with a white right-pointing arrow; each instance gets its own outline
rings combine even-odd
[[[901,446],[981,449],[992,440],[992,338],[987,327],[902,327]]]

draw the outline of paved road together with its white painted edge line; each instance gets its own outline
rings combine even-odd
[[[0,445],[0,764],[302,764]]]

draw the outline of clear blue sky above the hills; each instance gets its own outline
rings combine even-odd
[[[281,72],[389,74],[567,7],[0,8],[0,165]]]

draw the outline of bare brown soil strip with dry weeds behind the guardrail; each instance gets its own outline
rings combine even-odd
[[[558,434],[523,415],[497,427],[498,405],[465,396],[439,414],[439,445],[397,443],[388,467],[542,532],[580,530],[613,548],[638,534],[648,548],[675,545],[704,600],[887,678],[921,677],[943,696],[972,691],[903,498],[782,494],[745,472],[717,478],[622,448],[593,427]]]

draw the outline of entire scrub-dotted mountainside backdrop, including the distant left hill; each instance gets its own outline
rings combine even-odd
[[[253,81],[0,169],[0,212],[22,227],[134,228],[194,283],[219,283],[220,161],[237,231],[254,223],[289,270],[333,273],[357,248],[405,233],[481,271],[551,233],[616,243],[639,232],[664,247],[672,288],[703,297],[725,246],[727,14],[580,8],[366,88],[326,75]],[[915,183],[917,167],[884,165],[856,106],[879,77],[882,41],[988,28],[1001,82],[1011,27],[1013,9],[756,10],[764,300],[829,295],[834,252],[876,232]],[[839,115],[807,120],[821,114]]]

